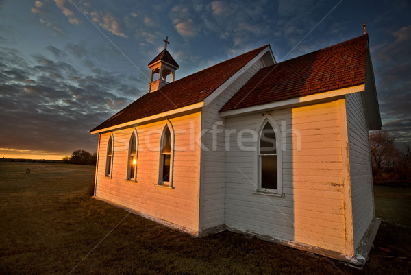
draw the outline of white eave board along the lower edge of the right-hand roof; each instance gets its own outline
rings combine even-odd
[[[343,97],[344,95],[350,93],[358,93],[364,91],[364,84],[357,86],[351,86],[348,88],[341,88],[334,91],[327,91],[323,93],[316,93],[314,95],[306,95],[303,97],[292,97],[290,99],[284,99],[280,101],[274,101],[267,104],[249,106],[240,109],[226,110],[220,112],[220,117],[231,117],[234,115],[245,115],[253,112],[262,112],[266,110],[280,109],[280,108],[290,108],[299,105],[313,104],[319,101],[325,101],[330,99],[336,99],[338,97]]]

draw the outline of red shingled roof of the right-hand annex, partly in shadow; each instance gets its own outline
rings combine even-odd
[[[260,69],[220,111],[365,83],[368,34]]]

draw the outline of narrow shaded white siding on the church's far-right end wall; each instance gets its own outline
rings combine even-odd
[[[354,246],[357,247],[374,215],[369,131],[360,93],[347,95],[347,132],[351,174]]]

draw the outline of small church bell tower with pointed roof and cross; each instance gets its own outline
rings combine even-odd
[[[169,37],[166,36],[166,39],[163,39],[163,41],[164,50],[149,63],[149,68],[151,69],[149,93],[158,91],[166,86],[166,84],[173,82],[175,71],[179,68],[177,62],[167,51],[167,44],[170,44]]]

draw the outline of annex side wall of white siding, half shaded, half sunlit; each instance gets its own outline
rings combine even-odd
[[[340,115],[343,100],[313,106],[273,110],[282,130],[284,198],[253,192],[257,165],[256,136],[262,114],[227,117],[232,134],[226,153],[227,228],[297,241],[345,253],[343,175]],[[343,105],[344,106],[344,105]],[[252,141],[255,139],[255,141]]]

